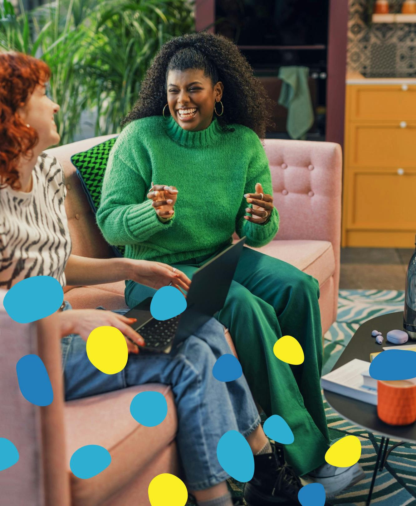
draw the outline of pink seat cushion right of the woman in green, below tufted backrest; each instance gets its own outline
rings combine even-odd
[[[335,272],[335,255],[329,241],[273,240],[260,251],[310,274],[319,281],[319,286]]]

